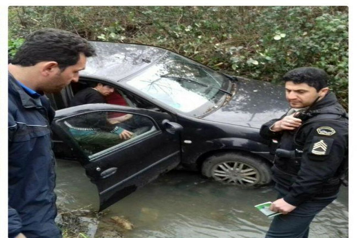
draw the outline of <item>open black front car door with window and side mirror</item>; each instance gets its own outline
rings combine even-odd
[[[129,119],[108,124],[118,118]],[[57,110],[52,130],[96,184],[102,211],[180,163],[182,127],[171,120],[167,113],[96,103]],[[133,135],[121,139],[123,130]]]

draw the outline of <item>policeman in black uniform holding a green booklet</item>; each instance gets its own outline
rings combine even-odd
[[[266,238],[307,238],[315,215],[330,204],[341,185],[348,160],[348,116],[327,87],[327,74],[314,67],[287,72],[285,115],[262,125],[272,141],[272,167],[279,192],[270,210],[276,216]]]

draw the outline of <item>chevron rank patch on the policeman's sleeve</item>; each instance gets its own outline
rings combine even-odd
[[[309,149],[309,158],[313,160],[324,160],[324,155],[330,154],[332,143],[332,138],[314,136]]]

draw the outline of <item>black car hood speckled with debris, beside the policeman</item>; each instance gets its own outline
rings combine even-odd
[[[260,128],[287,112],[284,88],[268,82],[242,79],[235,84],[236,93],[203,120]]]

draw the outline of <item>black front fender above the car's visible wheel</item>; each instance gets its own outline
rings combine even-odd
[[[200,161],[197,159],[213,151],[245,151],[268,161],[273,159],[268,153],[267,141],[260,137],[258,128],[206,121],[185,115],[178,115],[177,122],[183,125],[181,164],[188,170],[199,170]],[[185,140],[191,143],[184,143]]]

